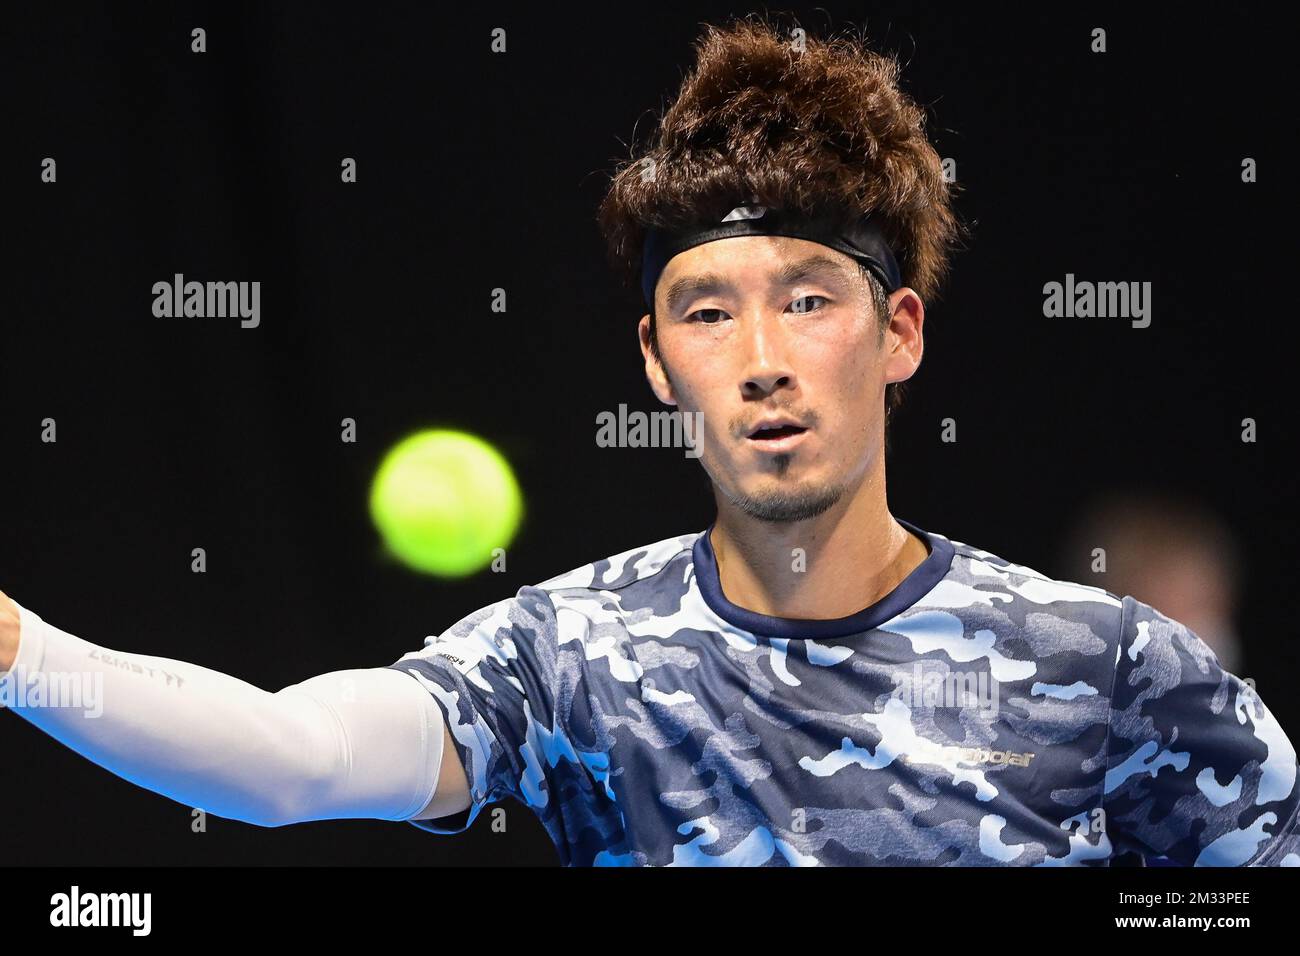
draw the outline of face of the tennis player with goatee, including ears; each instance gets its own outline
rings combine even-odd
[[[707,242],[659,277],[662,362],[644,316],[646,376],[702,414],[701,463],[722,494],[762,520],[805,520],[861,485],[884,446],[884,388],[920,363],[920,299],[900,289],[890,312],[881,334],[857,263],[820,243]]]

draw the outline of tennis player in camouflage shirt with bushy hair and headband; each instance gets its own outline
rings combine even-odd
[[[601,208],[646,375],[718,505],[389,667],[266,693],[9,604],[9,706],[190,805],[464,830],[532,808],[572,865],[1297,865],[1296,754],[1176,620],[896,519],[885,425],[959,228],[896,66],[710,27]],[[47,680],[47,684],[53,683]]]

